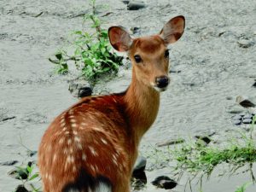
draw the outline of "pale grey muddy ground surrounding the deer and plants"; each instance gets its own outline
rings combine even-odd
[[[236,96],[256,96],[255,0],[148,0],[137,11],[127,10],[119,0],[96,2],[108,4],[99,12],[110,13],[102,18],[105,27],[137,26],[142,35],[160,32],[175,15],[186,18],[183,38],[170,51],[172,71],[180,73],[171,73],[172,84],[161,96],[160,113],[143,138],[141,154],[155,143],[211,131],[221,143],[227,132],[241,129],[232,125],[229,111]],[[89,0],[0,0],[0,162],[36,160],[36,155],[27,157],[20,143],[37,150],[50,121],[77,101],[68,91],[72,76],[55,75],[48,58],[65,45],[70,32],[82,28],[83,18],[77,15],[89,8]],[[130,74],[121,71],[96,90],[125,90]],[[1,192],[20,183],[7,175],[12,167],[0,166]],[[167,169],[147,172],[148,181],[165,173],[170,174]],[[203,192],[234,192],[247,181],[243,174],[219,183],[213,177]],[[183,188],[180,183],[176,190]],[[145,190],[166,191],[150,183]]]

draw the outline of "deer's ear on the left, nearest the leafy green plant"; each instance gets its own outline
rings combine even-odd
[[[108,29],[108,38],[114,49],[127,51],[132,43],[131,36],[121,26],[111,26]]]

